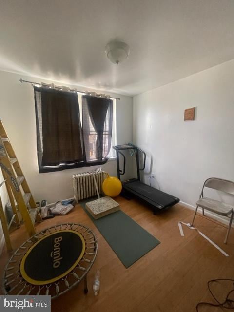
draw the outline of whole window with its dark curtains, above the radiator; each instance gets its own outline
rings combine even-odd
[[[115,99],[82,98],[48,86],[34,91],[39,173],[102,165],[115,157]]]

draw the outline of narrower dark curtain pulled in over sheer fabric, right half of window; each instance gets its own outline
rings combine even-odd
[[[112,100],[82,96],[82,127],[86,162],[107,162],[112,137]]]

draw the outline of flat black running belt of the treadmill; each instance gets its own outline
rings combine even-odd
[[[134,181],[129,183],[123,183],[123,187],[126,190],[133,191],[134,194],[141,197],[142,199],[150,202],[153,204],[157,203],[161,207],[158,208],[165,208],[171,205],[175,205],[177,202],[179,202],[179,199],[169,195],[167,193],[164,193],[162,191],[159,191],[145,183],[142,183],[140,181]],[[157,206],[157,205],[156,205]]]

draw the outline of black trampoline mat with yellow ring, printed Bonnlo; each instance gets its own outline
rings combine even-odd
[[[84,251],[84,238],[76,231],[61,230],[48,234],[24,255],[20,273],[34,285],[53,283],[77,266]]]

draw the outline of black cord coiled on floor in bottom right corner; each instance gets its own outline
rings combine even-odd
[[[227,310],[234,310],[234,300],[230,299],[230,295],[232,293],[234,293],[234,288],[228,292],[228,294],[226,295],[226,298],[223,302],[219,302],[218,299],[215,297],[215,295],[213,294],[213,292],[211,291],[210,288],[210,284],[213,282],[218,282],[218,281],[232,281],[233,282],[233,286],[234,286],[234,279],[229,279],[229,278],[218,278],[218,279],[212,279],[210,281],[207,282],[207,287],[208,290],[210,292],[210,294],[213,296],[213,298],[215,299],[215,301],[217,302],[217,304],[214,303],[210,303],[210,302],[199,302],[196,305],[196,311],[199,312],[198,307],[201,305],[207,305],[207,306],[212,306],[212,307],[220,307],[220,308],[224,308]]]

